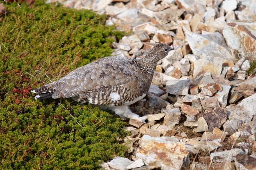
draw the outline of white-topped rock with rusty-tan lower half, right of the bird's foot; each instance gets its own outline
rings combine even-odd
[[[170,110],[165,110],[164,123],[166,127],[174,127],[176,124],[180,122],[180,109],[174,108]]]

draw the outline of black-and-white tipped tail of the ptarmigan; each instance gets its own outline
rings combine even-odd
[[[52,88],[52,86],[42,86],[40,88],[31,90],[32,93],[36,93],[36,96],[35,96],[36,100],[51,98],[54,91],[55,90],[54,88]]]

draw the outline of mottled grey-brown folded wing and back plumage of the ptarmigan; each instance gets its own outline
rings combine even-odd
[[[130,84],[138,69],[127,57],[105,57],[77,68],[54,84],[53,98],[70,98],[108,86]],[[92,94],[92,93],[91,93]]]

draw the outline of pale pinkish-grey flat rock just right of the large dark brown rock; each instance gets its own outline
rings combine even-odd
[[[252,120],[253,114],[241,106],[228,106],[226,109],[229,112],[229,119],[236,119],[242,123],[248,123]]]

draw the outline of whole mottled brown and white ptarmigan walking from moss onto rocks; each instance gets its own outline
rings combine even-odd
[[[105,57],[70,72],[58,81],[32,90],[36,100],[73,98],[111,109],[122,118],[144,122],[128,105],[141,100],[150,88],[156,63],[172,50],[155,45],[142,59]]]

